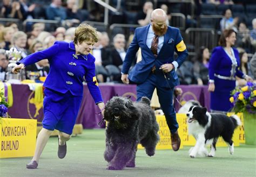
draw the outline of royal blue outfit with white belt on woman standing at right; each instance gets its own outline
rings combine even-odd
[[[224,47],[215,47],[209,63],[209,79],[214,80],[215,90],[211,92],[211,110],[228,112],[232,109],[230,102],[231,91],[235,88],[235,76],[240,78],[244,74],[238,70],[239,53],[232,48],[232,56]]]

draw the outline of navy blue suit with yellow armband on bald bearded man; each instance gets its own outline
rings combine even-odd
[[[174,66],[180,65],[187,58],[186,46],[183,42],[179,29],[167,26],[164,35],[164,44],[158,52],[157,57],[154,56],[151,49],[146,45],[147,33],[150,25],[138,27],[135,30],[134,38],[126,52],[123,63],[122,73],[127,74],[136,53],[139,48],[142,49],[142,61],[138,62],[129,74],[129,80],[137,84],[137,101],[142,96],[152,98],[154,88],[157,88],[157,95],[161,109],[163,109],[167,125],[171,133],[178,130],[176,121],[176,112],[173,108],[173,90],[179,84],[179,79],[175,69],[169,73],[164,73],[159,69],[165,63],[173,63]],[[174,60],[174,51],[178,54],[178,58]],[[156,66],[153,73],[152,68]]]

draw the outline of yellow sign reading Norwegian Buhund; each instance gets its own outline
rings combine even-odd
[[[33,156],[36,130],[36,119],[0,118],[0,158]]]

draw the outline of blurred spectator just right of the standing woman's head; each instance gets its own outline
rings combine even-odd
[[[239,24],[238,33],[237,33],[237,46],[248,49],[248,46],[250,45],[251,45],[250,30],[247,29],[247,26],[244,22],[241,22]]]

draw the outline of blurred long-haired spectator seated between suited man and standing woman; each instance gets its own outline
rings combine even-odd
[[[194,59],[193,72],[198,85],[208,84],[208,67],[210,52],[207,47],[200,47],[196,58]]]

